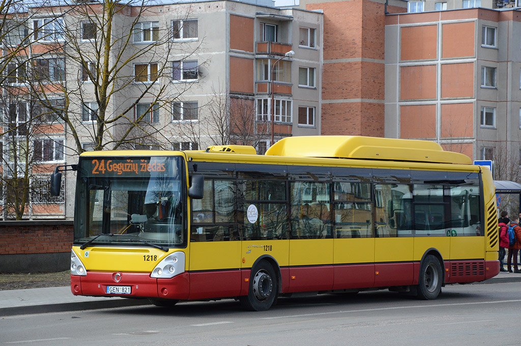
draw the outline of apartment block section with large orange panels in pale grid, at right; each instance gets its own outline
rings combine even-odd
[[[517,167],[520,42],[515,9],[387,16],[385,136],[436,140]]]

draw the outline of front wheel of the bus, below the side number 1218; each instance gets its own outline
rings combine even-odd
[[[277,275],[267,261],[260,261],[252,270],[247,296],[239,297],[242,306],[251,311],[266,311],[277,297]]]

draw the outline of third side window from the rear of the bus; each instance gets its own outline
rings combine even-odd
[[[412,186],[375,184],[376,237],[412,236]]]

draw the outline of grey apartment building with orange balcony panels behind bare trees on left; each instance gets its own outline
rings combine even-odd
[[[272,138],[320,134],[322,14],[256,3],[123,6],[111,30],[115,41],[128,37],[128,47],[117,50],[116,44],[103,54],[96,35],[105,22],[92,20],[88,12],[78,15],[70,6],[55,6],[19,14],[27,18],[26,25],[17,29],[17,39],[3,44],[13,47],[30,40],[19,55],[29,57],[31,64],[8,68],[10,86],[16,86],[11,94],[18,101],[4,101],[4,119],[10,119],[12,131],[4,135],[3,148],[4,161],[30,155],[30,184],[38,180],[41,185],[39,191],[31,189],[23,217],[72,217],[75,175],[65,173],[65,193],[58,198],[47,194],[48,175],[56,165],[76,163],[80,147],[99,147],[96,131],[103,102],[104,149],[205,148],[220,143],[222,129],[215,117],[232,113],[249,118],[232,119],[230,132],[240,131],[241,120],[253,123],[246,131],[256,135],[260,153]],[[87,4],[91,12],[102,11],[102,4]],[[73,48],[78,54],[71,54]],[[113,67],[122,76],[113,80],[117,92],[100,99],[97,79],[103,68]],[[46,107],[29,96],[23,99],[23,92],[32,91],[31,69],[45,76],[44,83],[38,82]],[[61,111],[67,121],[57,116]],[[35,131],[28,144],[19,145],[26,134],[20,131],[34,112],[40,121],[31,124]],[[17,148],[23,153],[9,153]],[[21,174],[20,166],[15,170]],[[4,177],[14,180],[5,169]],[[9,194],[13,188],[7,183],[4,190]],[[3,217],[13,217],[13,211],[4,207]]]

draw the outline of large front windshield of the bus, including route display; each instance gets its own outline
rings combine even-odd
[[[180,157],[80,158],[74,244],[186,246],[182,177]]]

